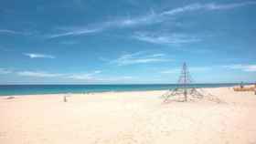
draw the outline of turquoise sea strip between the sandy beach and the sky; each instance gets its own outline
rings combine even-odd
[[[189,87],[231,87],[238,84],[193,84]],[[0,96],[106,91],[142,91],[176,88],[176,84],[152,85],[0,85]]]

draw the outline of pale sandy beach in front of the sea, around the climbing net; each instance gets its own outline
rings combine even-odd
[[[0,97],[1,144],[256,144],[256,95],[164,103],[165,90]]]

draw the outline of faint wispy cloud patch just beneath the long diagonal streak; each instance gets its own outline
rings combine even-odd
[[[201,41],[201,39],[197,36],[188,36],[184,34],[172,34],[172,35],[159,35],[159,34],[149,34],[149,33],[135,33],[132,36],[133,38],[153,43],[153,44],[167,44],[167,45],[181,45],[187,43],[195,43]]]

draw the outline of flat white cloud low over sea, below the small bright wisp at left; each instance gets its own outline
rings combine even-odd
[[[25,76],[25,77],[61,77],[61,76],[64,76],[63,74],[38,72],[38,71],[18,71],[18,72],[16,72],[16,74],[18,76]]]

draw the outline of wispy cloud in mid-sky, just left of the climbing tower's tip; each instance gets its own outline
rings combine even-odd
[[[126,66],[133,64],[146,64],[146,63],[156,63],[156,62],[166,62],[170,61],[170,58],[167,58],[165,54],[147,54],[145,52],[137,52],[133,54],[125,54],[121,57],[118,57],[115,60],[112,60],[112,64],[118,66]]]

